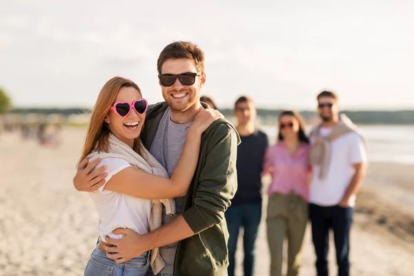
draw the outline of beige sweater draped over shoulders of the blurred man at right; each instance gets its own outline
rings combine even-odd
[[[313,166],[320,166],[319,179],[324,179],[328,170],[332,141],[341,137],[342,135],[346,135],[348,132],[356,132],[364,141],[365,147],[366,141],[359,132],[357,126],[355,126],[351,119],[346,117],[344,114],[340,115],[338,124],[333,127],[331,133],[327,137],[319,136],[319,129],[321,127],[322,124],[319,124],[311,132],[311,137],[313,138],[313,145],[311,148],[311,164]]]

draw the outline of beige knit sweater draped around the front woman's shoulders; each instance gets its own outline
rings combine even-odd
[[[152,173],[153,175],[159,175],[161,177],[168,177],[168,172],[166,169],[159,164],[157,159],[153,157],[144,146],[141,147],[142,152],[144,152],[144,157],[141,157],[137,152],[132,150],[130,146],[119,140],[115,135],[109,135],[109,151],[108,152],[93,152],[89,155],[91,159],[96,158],[119,158],[124,159],[129,164],[145,172]],[[174,199],[152,199],[151,200],[151,213],[150,213],[150,230],[155,230],[161,226],[162,221],[162,206],[166,206],[167,215],[175,215],[175,201]],[[166,263],[159,255],[159,248],[151,250],[151,268],[154,275],[157,275],[161,271]]]

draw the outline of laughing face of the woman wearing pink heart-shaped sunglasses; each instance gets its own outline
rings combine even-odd
[[[141,99],[141,94],[133,87],[123,87],[119,90],[115,102],[132,103],[136,99]],[[145,113],[139,114],[132,108],[126,117],[120,117],[117,112],[110,110],[105,117],[110,132],[119,140],[132,148],[134,140],[141,134],[142,126],[144,126]]]

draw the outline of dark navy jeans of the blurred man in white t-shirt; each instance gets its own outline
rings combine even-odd
[[[318,206],[309,204],[312,222],[312,239],[316,253],[317,276],[328,276],[329,229],[332,228],[338,276],[349,275],[349,231],[351,230],[353,208],[340,206]]]

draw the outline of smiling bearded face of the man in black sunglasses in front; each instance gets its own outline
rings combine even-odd
[[[164,61],[161,74],[182,74],[185,72],[197,72],[193,59],[167,59]],[[195,77],[195,83],[191,86],[184,86],[179,79],[175,80],[172,86],[161,86],[162,96],[172,111],[185,112],[197,107],[200,97],[200,89],[206,81],[204,73]]]

